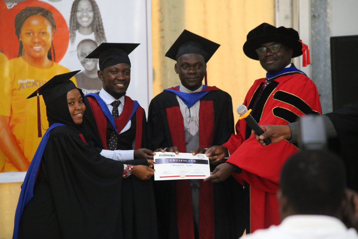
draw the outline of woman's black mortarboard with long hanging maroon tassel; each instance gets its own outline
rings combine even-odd
[[[37,131],[38,137],[42,137],[41,132],[41,113],[40,113],[40,98],[42,95],[45,105],[54,101],[66,92],[76,89],[76,85],[70,80],[74,75],[80,71],[72,71],[61,75],[52,77],[48,82],[40,86],[35,92],[29,95],[26,99],[37,96]]]

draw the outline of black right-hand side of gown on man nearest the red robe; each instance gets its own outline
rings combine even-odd
[[[234,133],[231,96],[224,91],[215,92],[215,128],[212,145],[226,143]],[[211,166],[211,171],[216,166]],[[233,176],[224,182],[213,183],[215,238],[238,238],[245,230],[245,198],[242,185]]]

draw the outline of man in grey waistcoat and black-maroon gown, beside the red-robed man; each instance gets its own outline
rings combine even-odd
[[[206,63],[218,47],[184,30],[165,54],[176,61],[181,84],[164,90],[150,102],[150,149],[203,153],[204,148],[223,144],[234,133],[230,95],[202,84]],[[203,180],[156,181],[159,238],[238,238],[244,229],[241,191],[232,177],[216,184]]]

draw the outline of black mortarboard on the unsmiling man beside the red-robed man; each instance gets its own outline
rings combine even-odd
[[[197,53],[204,57],[205,62],[208,62],[219,46],[219,44],[211,40],[184,30],[173,46],[165,53],[165,56],[176,61],[178,57],[184,54]]]

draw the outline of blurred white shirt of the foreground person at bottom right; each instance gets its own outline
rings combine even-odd
[[[356,239],[357,231],[337,218],[324,215],[287,216],[280,225],[256,230],[242,239]]]

